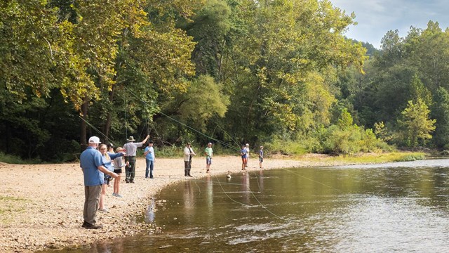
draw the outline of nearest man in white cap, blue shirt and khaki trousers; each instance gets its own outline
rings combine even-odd
[[[84,176],[84,209],[83,228],[97,229],[102,228],[102,225],[98,225],[97,210],[100,202],[101,187],[105,182],[105,174],[112,176],[116,179],[117,174],[109,171],[103,162],[103,157],[100,151],[97,150],[98,144],[100,144],[100,138],[92,136],[89,138],[88,147],[81,153],[79,157],[80,166]]]

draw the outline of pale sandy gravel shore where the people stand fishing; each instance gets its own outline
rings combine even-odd
[[[257,158],[248,162],[248,170],[258,170]],[[309,167],[333,164],[300,160],[267,159],[264,169]],[[0,164],[0,252],[34,252],[39,249],[79,247],[95,240],[119,238],[154,229],[149,224],[136,223],[135,216],[145,212],[149,198],[171,183],[185,178],[182,158],[156,159],[154,179],[145,179],[145,160],[137,162],[136,182],[124,183],[121,194],[112,196],[108,188],[105,205],[109,213],[98,212],[99,230],[81,228],[83,223],[83,174],[78,163],[13,165]],[[214,157],[212,174],[227,171],[239,173],[239,157]],[[203,157],[195,157],[193,179],[207,176]]]

